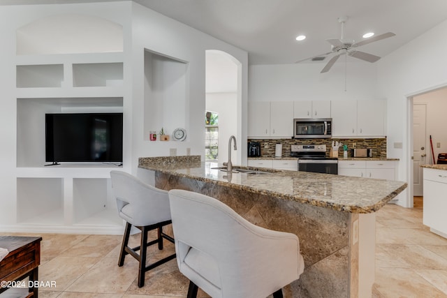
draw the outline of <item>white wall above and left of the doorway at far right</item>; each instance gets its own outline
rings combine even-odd
[[[378,94],[388,103],[388,156],[400,158],[398,179],[412,184],[408,98],[447,85],[447,21],[411,40],[378,63]],[[402,142],[403,149],[394,148]],[[411,207],[411,190],[398,204]]]

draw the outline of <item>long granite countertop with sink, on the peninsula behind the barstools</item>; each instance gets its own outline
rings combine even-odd
[[[138,167],[147,170],[351,213],[375,212],[406,188],[402,181],[256,167],[239,168],[265,173],[228,175],[214,169],[214,165],[200,162],[200,156],[148,157],[138,161]]]

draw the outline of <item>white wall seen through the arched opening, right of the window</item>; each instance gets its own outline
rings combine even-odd
[[[231,135],[237,133],[237,123],[235,114],[237,112],[236,93],[208,93],[206,96],[207,110],[219,114],[219,163],[228,161],[228,140]],[[237,143],[237,151],[242,150],[242,144]],[[233,165],[240,165],[237,156],[231,147],[231,162]],[[245,152],[242,154],[247,155]]]

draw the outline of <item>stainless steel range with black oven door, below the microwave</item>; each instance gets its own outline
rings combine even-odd
[[[292,145],[291,156],[298,157],[298,171],[337,174],[338,158],[326,157],[326,145]]]

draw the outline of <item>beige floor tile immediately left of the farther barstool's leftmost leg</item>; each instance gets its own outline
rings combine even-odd
[[[91,235],[61,253],[64,257],[103,257],[121,243],[117,235]]]

